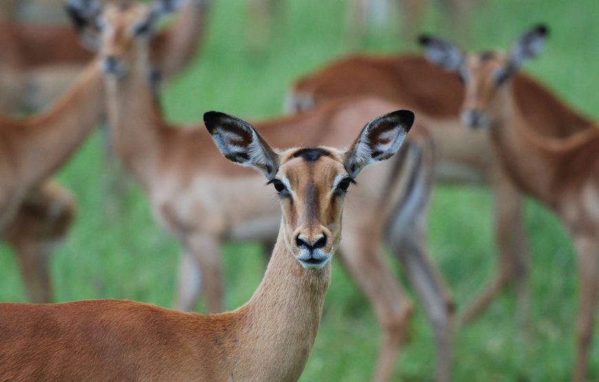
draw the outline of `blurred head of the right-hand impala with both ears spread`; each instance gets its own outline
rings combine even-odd
[[[461,123],[473,129],[492,125],[495,100],[521,65],[540,52],[547,27],[538,25],[520,37],[509,52],[483,52],[465,55],[459,47],[432,36],[421,36],[426,58],[435,65],[459,74],[465,85]]]

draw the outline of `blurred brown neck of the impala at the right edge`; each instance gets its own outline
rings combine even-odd
[[[503,165],[518,187],[555,207],[554,158],[516,106],[511,82],[498,91],[496,103],[492,139]]]

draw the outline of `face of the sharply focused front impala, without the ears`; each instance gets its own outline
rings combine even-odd
[[[335,149],[293,149],[281,161],[269,183],[281,200],[288,250],[304,268],[322,268],[339,244],[343,201],[355,180]]]

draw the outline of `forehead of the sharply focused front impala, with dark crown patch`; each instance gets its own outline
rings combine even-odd
[[[292,151],[284,154],[277,178],[280,178],[288,189],[301,193],[317,184],[319,191],[334,189],[348,176],[337,151],[314,149],[314,151]]]

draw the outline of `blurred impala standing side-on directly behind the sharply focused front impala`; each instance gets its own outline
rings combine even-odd
[[[81,3],[85,14],[85,2]],[[106,7],[101,60],[107,81],[110,126],[125,167],[147,192],[154,215],[174,233],[185,251],[180,265],[176,307],[191,310],[200,286],[209,312],[222,310],[220,245],[225,240],[272,240],[280,220],[262,181],[253,173],[227,166],[221,169],[211,142],[200,129],[169,125],[147,81],[147,39],[165,6]],[[95,23],[90,19],[90,23]],[[114,36],[118,36],[115,39]],[[261,123],[258,126],[280,147],[324,142],[349,145],[357,134],[355,121],[395,109],[376,98],[330,103],[311,113]],[[344,264],[375,306],[384,330],[377,379],[390,378],[410,302],[386,268],[385,240],[404,264],[410,281],[424,301],[438,342],[439,374],[448,378],[451,346],[451,300],[437,270],[426,257],[423,214],[428,206],[432,147],[419,129],[406,143],[405,160],[367,171],[364,187],[353,195],[346,211],[348,240],[341,246]],[[297,134],[301,131],[301,134]],[[409,164],[409,165],[408,165]],[[201,273],[200,273],[201,270]],[[201,276],[201,277],[200,277]],[[200,282],[201,280],[201,282]]]

